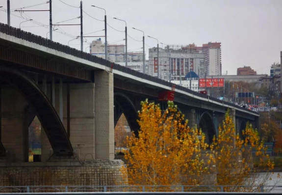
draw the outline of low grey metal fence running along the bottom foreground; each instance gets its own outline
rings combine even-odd
[[[0,193],[282,192],[282,186],[0,186]]]

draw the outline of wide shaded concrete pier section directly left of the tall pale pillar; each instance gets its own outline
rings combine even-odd
[[[67,85],[63,88],[65,97]],[[63,124],[67,130],[66,101]],[[95,159],[94,83],[70,84],[70,141],[81,160]]]

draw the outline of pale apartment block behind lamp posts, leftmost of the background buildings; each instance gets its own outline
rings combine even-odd
[[[125,45],[123,44],[108,44],[107,45],[107,59],[112,62],[125,62]],[[90,44],[90,54],[105,58],[105,44],[101,38],[92,41]],[[143,52],[128,52],[128,62],[130,61],[142,61]]]

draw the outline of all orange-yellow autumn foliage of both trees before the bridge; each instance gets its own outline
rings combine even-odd
[[[131,185],[172,186],[205,185],[205,179],[217,177],[212,185],[263,185],[255,175],[252,148],[261,156],[258,168],[271,170],[274,164],[264,155],[266,148],[258,132],[247,124],[243,139],[236,135],[229,111],[225,115],[218,137],[211,145],[205,143],[205,134],[190,129],[177,106],[168,102],[168,109],[161,111],[159,105],[142,102],[138,123],[138,137],[127,138],[129,151],[125,153],[128,167],[128,183]],[[200,136],[202,139],[199,139]],[[205,161],[204,158],[205,157]],[[262,160],[264,158],[264,161]],[[266,160],[266,166],[264,165]],[[215,163],[216,173],[210,165]],[[213,166],[212,166],[213,167]],[[252,176],[251,175],[252,171]],[[186,177],[185,177],[186,176]],[[208,176],[208,177],[206,177]],[[252,178],[252,179],[250,179]],[[269,175],[265,178],[269,178]],[[216,180],[216,179],[215,179]],[[250,189],[225,189],[228,191],[249,191]],[[255,191],[252,188],[251,191]]]

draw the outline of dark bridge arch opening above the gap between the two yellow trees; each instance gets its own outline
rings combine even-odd
[[[199,128],[205,133],[205,142],[211,144],[213,137],[216,136],[216,131],[212,116],[207,111],[201,115]]]

